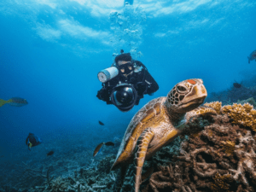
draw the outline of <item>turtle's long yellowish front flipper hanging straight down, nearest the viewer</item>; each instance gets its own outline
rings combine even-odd
[[[142,135],[137,140],[137,153],[135,154],[135,192],[139,191],[142,183],[143,164],[148,150],[148,144],[154,137],[154,132],[150,128],[143,131]]]

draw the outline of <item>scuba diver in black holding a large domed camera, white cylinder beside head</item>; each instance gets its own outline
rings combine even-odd
[[[102,89],[98,90],[96,96],[107,104],[115,105],[120,111],[127,112],[139,104],[143,95],[152,96],[159,86],[141,61],[132,60],[130,53],[123,52],[121,49],[112,67],[98,73]]]

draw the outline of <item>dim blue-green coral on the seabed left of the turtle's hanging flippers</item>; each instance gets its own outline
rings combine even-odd
[[[95,167],[89,169],[80,168],[68,177],[57,177],[50,183],[43,186],[35,186],[30,189],[31,192],[75,192],[75,191],[106,191],[110,192],[115,181],[113,172],[109,172],[110,162],[113,162],[115,155],[106,156]],[[105,167],[105,165],[107,165]],[[104,168],[105,167],[105,168]]]

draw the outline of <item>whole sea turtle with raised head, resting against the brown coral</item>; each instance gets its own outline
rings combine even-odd
[[[138,192],[144,160],[180,135],[192,117],[216,113],[212,108],[199,107],[206,97],[203,81],[188,79],[176,84],[167,96],[148,102],[134,115],[111,168],[120,168],[113,191],[121,189],[126,169],[134,161],[135,191]]]

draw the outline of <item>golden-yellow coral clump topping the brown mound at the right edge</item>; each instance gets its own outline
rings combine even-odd
[[[227,113],[234,124],[247,126],[256,131],[256,110],[249,103],[226,105],[221,108],[221,113]]]

